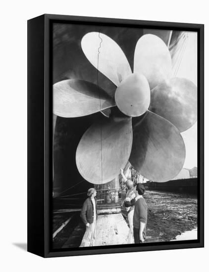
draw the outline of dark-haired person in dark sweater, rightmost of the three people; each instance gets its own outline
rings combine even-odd
[[[134,206],[134,243],[143,243],[146,239],[146,224],[147,224],[147,203],[143,197],[145,187],[142,183],[136,186],[137,196]]]

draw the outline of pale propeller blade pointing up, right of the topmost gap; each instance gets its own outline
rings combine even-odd
[[[137,42],[134,53],[134,73],[143,74],[152,90],[171,75],[171,56],[165,43],[147,34]]]

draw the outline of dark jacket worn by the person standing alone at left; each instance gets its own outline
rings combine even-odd
[[[96,215],[98,217],[96,197],[95,197],[95,204],[96,204]],[[93,206],[91,197],[88,197],[83,204],[83,207],[81,210],[81,218],[85,225],[87,225],[87,223],[92,224],[94,222],[94,206]]]

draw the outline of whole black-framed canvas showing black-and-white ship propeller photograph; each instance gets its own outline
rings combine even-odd
[[[28,21],[28,251],[204,246],[204,25]]]

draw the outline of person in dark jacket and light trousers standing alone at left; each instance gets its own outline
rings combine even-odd
[[[97,212],[97,191],[95,188],[90,188],[88,190],[88,198],[85,200],[82,210],[81,210],[81,219],[86,226],[85,245],[84,246],[93,246],[94,245],[94,232],[98,217]]]

